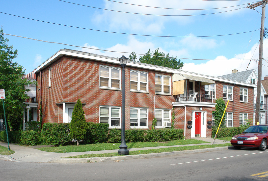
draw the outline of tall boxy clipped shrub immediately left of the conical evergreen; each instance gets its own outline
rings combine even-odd
[[[43,144],[55,146],[71,142],[68,123],[44,123],[42,127]]]

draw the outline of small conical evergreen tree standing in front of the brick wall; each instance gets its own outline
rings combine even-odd
[[[72,120],[70,123],[70,137],[76,140],[77,146],[79,146],[79,140],[85,138],[87,131],[87,123],[85,122],[85,112],[82,108],[81,100],[78,99],[75,104],[75,108],[72,113]]]

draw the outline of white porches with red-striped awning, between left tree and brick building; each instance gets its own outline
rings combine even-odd
[[[35,81],[36,74],[31,72],[22,77],[23,79],[27,78],[27,81]],[[27,121],[37,121],[37,103],[36,103],[36,86],[35,84],[28,84],[25,86],[26,89],[29,89],[28,92],[25,92],[30,99],[25,100],[26,107],[23,108],[23,130],[25,130]],[[25,110],[27,109],[27,118],[25,118]]]

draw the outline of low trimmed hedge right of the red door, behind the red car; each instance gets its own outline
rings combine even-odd
[[[217,133],[217,137],[222,138],[222,137],[232,137],[235,135],[238,135],[245,131],[248,127],[232,127],[232,128],[219,128],[219,131]],[[213,126],[211,128],[211,137],[215,137],[215,134],[217,132],[218,127]]]

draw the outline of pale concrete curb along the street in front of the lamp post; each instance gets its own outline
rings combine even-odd
[[[88,163],[88,162],[107,162],[107,161],[125,161],[129,159],[137,158],[153,158],[160,156],[172,156],[190,153],[202,153],[211,152],[225,149],[233,149],[233,146],[228,147],[215,147],[215,148],[203,148],[203,149],[193,149],[185,151],[173,151],[173,152],[162,152],[162,153],[152,153],[152,154],[142,154],[142,155],[124,155],[124,156],[112,156],[112,157],[95,157],[95,158],[58,158],[55,160],[48,161],[49,163]]]

